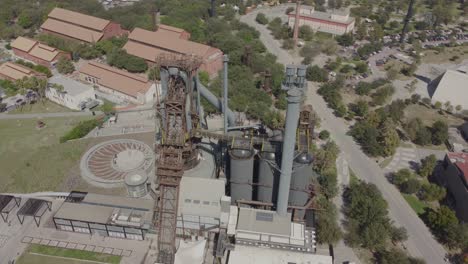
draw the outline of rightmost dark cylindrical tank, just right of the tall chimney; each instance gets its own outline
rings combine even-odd
[[[294,159],[289,204],[294,206],[304,206],[307,204],[310,180],[313,175],[312,161],[312,155],[309,153],[301,153]],[[301,216],[304,216],[304,213],[300,212],[300,215],[296,215],[296,217],[301,218]]]

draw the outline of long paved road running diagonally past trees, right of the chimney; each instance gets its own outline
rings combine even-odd
[[[267,11],[262,10],[262,12]],[[241,21],[259,29],[261,27],[255,22],[255,15],[255,12],[250,13],[242,17]],[[268,31],[259,31],[261,40],[270,52],[278,56],[279,62],[286,64],[293,61],[293,58],[287,56],[289,55],[287,52],[279,50],[278,46],[272,47],[278,42],[272,38]],[[322,118],[322,127],[330,131],[332,138],[342,150],[344,158],[356,175],[375,184],[382,192],[383,197],[388,202],[392,220],[397,226],[404,226],[408,230],[409,239],[406,242],[406,247],[409,253],[412,256],[425,259],[429,264],[444,263],[443,259],[446,255],[444,248],[433,238],[429,229],[403,199],[400,192],[387,181],[383,170],[362,152],[353,138],[346,135],[348,126],[343,119],[333,115],[323,98],[316,93],[317,88],[316,84],[309,82],[306,103],[311,104]]]

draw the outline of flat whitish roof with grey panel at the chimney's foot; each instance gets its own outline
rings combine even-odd
[[[291,214],[281,217],[276,212],[252,208],[239,208],[237,230],[289,236]]]

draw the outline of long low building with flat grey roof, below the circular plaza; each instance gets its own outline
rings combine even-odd
[[[71,192],[53,217],[58,230],[143,240],[154,200]]]

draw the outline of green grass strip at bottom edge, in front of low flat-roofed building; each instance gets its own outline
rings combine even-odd
[[[35,255],[40,254],[40,255]],[[50,256],[50,257],[49,257]],[[109,254],[101,254],[76,249],[64,249],[43,245],[31,245],[27,252],[21,256],[19,264],[42,264],[42,263],[111,263],[118,264],[122,257]],[[80,261],[84,260],[84,261]],[[89,262],[91,261],[91,262]]]

